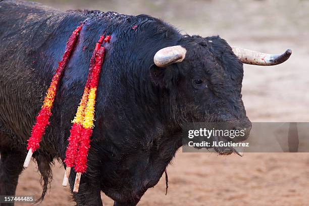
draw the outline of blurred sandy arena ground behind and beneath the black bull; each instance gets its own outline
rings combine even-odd
[[[308,1],[39,1],[61,9],[89,8],[160,17],[183,32],[220,34],[231,45],[281,53],[291,48],[286,63],[274,67],[245,65],[243,101],[252,122],[309,122]],[[61,186],[64,169],[56,164],[49,193],[40,205],[74,205]],[[182,153],[165,177],[148,189],[139,205],[308,205],[309,154]],[[19,179],[18,195],[39,197],[35,163]],[[105,205],[113,201],[101,194]],[[26,204],[17,204],[26,205]]]

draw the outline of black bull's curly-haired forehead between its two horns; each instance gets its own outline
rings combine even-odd
[[[185,37],[187,71],[193,76],[205,76],[216,90],[241,90],[243,66],[230,45],[219,36]]]

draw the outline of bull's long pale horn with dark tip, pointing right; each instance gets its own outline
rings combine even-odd
[[[270,55],[254,52],[245,48],[232,47],[234,54],[243,64],[272,66],[281,64],[289,59],[292,54],[291,49],[287,49],[282,55]]]

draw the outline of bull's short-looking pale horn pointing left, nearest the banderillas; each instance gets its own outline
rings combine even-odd
[[[184,60],[186,52],[187,50],[180,45],[165,47],[156,53],[155,57],[153,57],[153,62],[155,62],[158,67],[179,63]]]

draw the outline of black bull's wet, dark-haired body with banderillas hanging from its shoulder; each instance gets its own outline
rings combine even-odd
[[[158,183],[182,146],[186,122],[227,121],[249,127],[241,100],[242,63],[220,37],[182,35],[146,15],[61,12],[31,2],[1,1],[1,195],[15,194],[35,116],[68,37],[85,19],[50,126],[33,155],[43,180],[42,197],[52,179],[50,165],[65,158],[71,120],[102,33],[112,38],[98,86],[88,169],[73,194],[78,205],[101,205],[100,191],[117,205],[135,205]],[[172,45],[187,49],[184,61],[165,68],[154,65],[156,52]],[[71,186],[74,178],[71,172]]]

